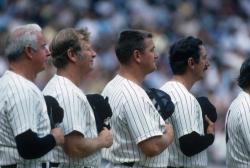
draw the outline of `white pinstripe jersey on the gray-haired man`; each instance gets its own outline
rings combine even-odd
[[[49,154],[39,159],[22,159],[17,152],[15,136],[28,129],[39,137],[50,133],[42,92],[31,81],[6,71],[0,78],[0,93],[0,165],[22,163],[28,168],[41,167],[38,163],[48,161]]]

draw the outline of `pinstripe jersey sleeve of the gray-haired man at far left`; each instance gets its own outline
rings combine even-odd
[[[17,136],[28,129],[37,132],[38,110],[45,110],[42,104],[41,95],[31,89],[20,86],[12,86],[8,94],[7,108],[8,120],[12,127],[14,136]]]

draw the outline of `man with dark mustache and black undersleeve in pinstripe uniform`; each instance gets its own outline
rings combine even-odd
[[[201,107],[190,93],[209,66],[206,49],[201,40],[186,37],[174,43],[169,54],[173,78],[161,87],[175,104],[169,119],[175,133],[169,147],[169,168],[206,167],[206,148],[214,141],[214,123],[206,116],[208,128],[204,132]]]

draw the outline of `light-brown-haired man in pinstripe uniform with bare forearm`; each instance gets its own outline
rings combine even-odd
[[[93,67],[96,56],[87,29],[61,30],[52,40],[51,55],[57,73],[43,90],[55,97],[64,109],[60,127],[65,133],[64,148],[53,151],[54,162],[60,167],[99,167],[101,148],[110,147],[112,136],[107,128],[97,135],[94,113],[79,88],[83,77]]]

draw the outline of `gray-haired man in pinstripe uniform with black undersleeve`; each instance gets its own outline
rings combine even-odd
[[[51,130],[42,92],[32,83],[49,54],[38,25],[23,25],[10,33],[9,70],[0,79],[1,168],[46,168],[47,153],[64,142],[61,129]]]

